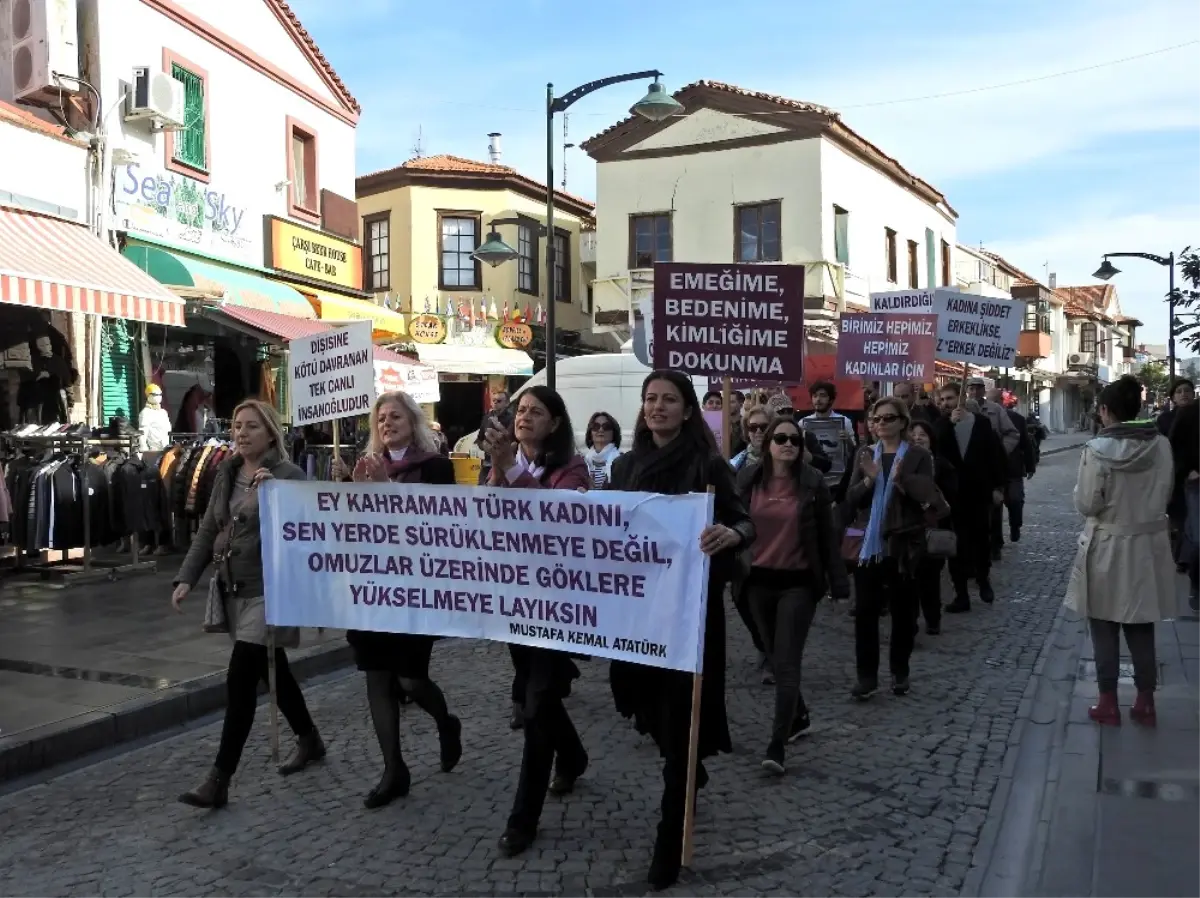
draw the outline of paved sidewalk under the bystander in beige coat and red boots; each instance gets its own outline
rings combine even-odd
[[[1200,893],[1200,616],[1157,628],[1158,728],[1133,724],[1133,667],[1122,657],[1121,728],[1087,718],[1096,665],[1086,622],[1066,612],[1012,765],[996,850],[977,856],[966,896],[1193,898]],[[1123,643],[1122,643],[1123,648]]]

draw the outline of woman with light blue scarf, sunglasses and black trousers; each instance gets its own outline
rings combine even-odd
[[[852,508],[871,509],[854,571],[858,683],[851,695],[859,701],[878,689],[880,616],[887,607],[892,609],[892,692],[908,694],[918,600],[913,576],[925,553],[928,520],[947,508],[934,484],[934,456],[907,441],[908,421],[908,407],[894,397],[872,406],[870,423],[878,442],[859,451],[846,493]]]

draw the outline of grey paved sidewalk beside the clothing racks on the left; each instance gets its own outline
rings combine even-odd
[[[118,581],[0,580],[0,783],[223,707],[229,640],[202,630],[203,583],[172,610],[179,558]],[[347,663],[340,631],[306,635],[300,676]]]

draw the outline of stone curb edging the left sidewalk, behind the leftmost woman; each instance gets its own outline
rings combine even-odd
[[[353,664],[344,641],[313,646],[288,658],[304,682]],[[179,686],[43,726],[14,734],[0,746],[0,788],[13,780],[94,752],[155,736],[224,708],[226,672],[208,674]]]

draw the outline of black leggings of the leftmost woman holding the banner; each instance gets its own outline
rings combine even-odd
[[[221,747],[217,749],[217,760],[214,765],[227,777],[236,773],[241,752],[254,725],[258,684],[269,684],[266,666],[266,646],[257,646],[253,642],[233,643],[229,671],[226,674],[226,717],[221,728]],[[275,649],[275,693],[280,711],[298,737],[307,736],[317,729],[282,648]]]

